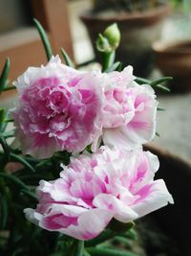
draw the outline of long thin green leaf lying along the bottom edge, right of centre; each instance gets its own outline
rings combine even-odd
[[[138,256],[135,253],[107,248],[87,248],[91,256]]]

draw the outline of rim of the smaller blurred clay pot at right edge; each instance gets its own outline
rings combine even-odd
[[[190,44],[190,49],[188,47],[183,48],[184,44]],[[181,46],[180,48],[176,46]],[[180,54],[180,55],[187,55],[191,54],[191,39],[190,40],[181,40],[181,41],[176,41],[176,42],[165,42],[165,41],[156,41],[152,45],[152,49],[155,53],[157,54]]]

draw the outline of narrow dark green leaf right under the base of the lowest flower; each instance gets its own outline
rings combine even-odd
[[[112,231],[110,229],[104,230],[99,236],[95,239],[89,240],[85,242],[86,247],[96,246],[96,244],[101,244],[109,239],[114,238],[117,235],[117,232]]]

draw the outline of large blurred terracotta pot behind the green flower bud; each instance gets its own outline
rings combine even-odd
[[[85,12],[80,17],[87,27],[94,48],[97,35],[108,25],[117,22],[121,32],[117,60],[124,65],[133,65],[135,74],[145,77],[152,65],[151,45],[159,39],[163,20],[170,11],[171,6],[166,4],[145,12],[121,12],[112,15],[107,12],[104,15]],[[97,53],[96,58],[98,59]]]

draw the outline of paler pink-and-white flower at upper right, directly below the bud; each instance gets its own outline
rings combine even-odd
[[[156,133],[158,102],[154,90],[134,81],[133,68],[105,75],[102,139],[105,145],[132,150]]]

